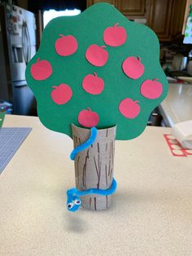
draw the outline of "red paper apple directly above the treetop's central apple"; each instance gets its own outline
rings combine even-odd
[[[85,52],[85,57],[90,64],[96,67],[102,67],[107,63],[108,52],[104,49],[106,46],[91,45]]]

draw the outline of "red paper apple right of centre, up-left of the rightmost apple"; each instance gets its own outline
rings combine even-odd
[[[124,70],[124,73],[128,77],[133,79],[142,77],[142,74],[144,72],[144,65],[141,63],[140,57],[128,57],[126,60],[124,60],[122,68]]]

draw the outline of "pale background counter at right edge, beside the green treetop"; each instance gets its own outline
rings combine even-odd
[[[192,84],[169,83],[168,96],[159,105],[167,126],[192,119]]]

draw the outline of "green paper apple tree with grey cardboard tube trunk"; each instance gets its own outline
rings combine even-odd
[[[115,136],[140,135],[167,95],[155,33],[107,3],[95,4],[81,15],[50,21],[26,78],[41,122],[71,136],[75,148],[89,139],[91,127],[98,129],[94,143],[75,157],[76,188],[104,193],[80,195],[85,208],[107,208],[111,195],[104,190],[115,185]]]

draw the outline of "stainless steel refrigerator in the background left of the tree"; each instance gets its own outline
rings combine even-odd
[[[0,4],[0,99],[13,105],[13,113],[36,112],[33,92],[25,81],[25,68],[36,53],[36,23],[32,12]]]

